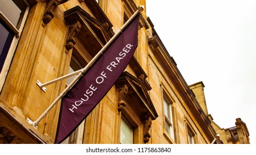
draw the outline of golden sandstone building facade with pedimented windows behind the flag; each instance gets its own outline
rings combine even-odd
[[[73,77],[46,90],[37,83],[83,68],[138,6],[145,9],[133,58],[63,143],[211,143],[217,129],[207,108],[183,79],[141,0],[1,0],[0,143],[53,143],[60,101],[37,128],[29,121]]]

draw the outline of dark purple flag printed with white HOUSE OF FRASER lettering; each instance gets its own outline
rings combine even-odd
[[[140,13],[62,99],[55,143],[63,142],[114,85],[137,48]]]

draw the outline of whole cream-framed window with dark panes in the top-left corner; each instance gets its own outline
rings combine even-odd
[[[0,0],[0,4],[0,79],[5,79],[29,7],[22,0]]]

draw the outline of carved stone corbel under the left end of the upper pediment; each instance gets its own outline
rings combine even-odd
[[[81,29],[81,24],[77,20],[76,22],[69,25],[68,38],[66,39],[65,47],[70,50],[76,44],[75,36],[78,35]]]

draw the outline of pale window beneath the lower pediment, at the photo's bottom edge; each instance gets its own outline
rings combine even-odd
[[[125,118],[121,118],[121,127],[120,127],[120,143],[121,144],[132,144],[134,130],[131,125],[125,120]]]

